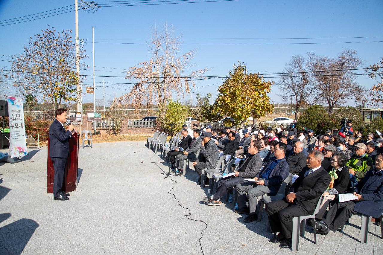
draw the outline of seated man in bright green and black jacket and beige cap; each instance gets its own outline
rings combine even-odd
[[[373,167],[373,162],[367,155],[367,146],[361,142],[354,144],[355,154],[347,161],[346,167],[349,169],[351,184],[355,186],[364,178],[368,170]]]

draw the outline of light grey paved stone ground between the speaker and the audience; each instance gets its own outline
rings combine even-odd
[[[6,150],[2,150],[6,152]],[[145,142],[94,144],[80,149],[77,190],[69,201],[46,193],[47,147],[29,151],[23,162],[0,163],[0,254],[201,254],[202,222],[184,217],[173,195],[167,166]],[[201,239],[207,254],[295,254],[268,242],[266,215],[244,223],[233,204],[205,206],[196,173],[188,170],[173,192],[190,208],[193,219],[208,228]],[[226,203],[226,204],[225,204]],[[370,224],[368,243],[361,244],[360,217],[345,233],[318,235],[306,227],[298,254],[383,254],[380,227]]]

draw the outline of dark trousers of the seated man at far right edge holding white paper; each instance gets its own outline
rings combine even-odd
[[[342,226],[351,216],[355,214],[354,211],[355,201],[347,201],[343,203],[335,203],[326,216],[322,218],[322,221],[326,223],[330,230],[336,231]]]

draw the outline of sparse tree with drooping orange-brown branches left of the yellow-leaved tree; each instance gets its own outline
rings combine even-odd
[[[161,32],[155,28],[150,46],[152,57],[128,70],[126,78],[135,79],[137,83],[130,92],[118,98],[118,102],[131,103],[136,111],[143,103],[146,108],[158,105],[160,114],[164,114],[173,93],[177,96],[188,93],[190,86],[194,86],[193,80],[206,69],[188,71],[195,52],[181,54],[181,46],[173,28],[169,29],[166,24]]]

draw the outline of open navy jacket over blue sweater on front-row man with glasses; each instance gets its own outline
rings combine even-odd
[[[275,160],[275,158],[270,159],[266,163],[264,168],[262,168],[262,170],[257,175],[255,175],[255,177],[260,178],[260,176],[267,170],[269,165],[271,165],[273,160]],[[290,168],[288,166],[288,163],[286,162],[286,159],[282,159],[280,162],[277,163],[277,165],[275,165],[270,175],[268,176],[268,180],[265,180],[264,184],[270,190],[270,192],[268,193],[270,196],[277,195],[283,180],[285,180],[288,176],[289,170]]]

